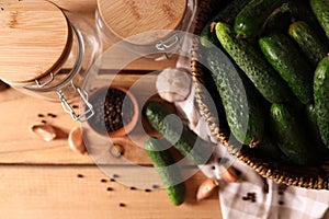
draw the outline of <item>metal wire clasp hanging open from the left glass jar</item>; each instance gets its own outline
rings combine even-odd
[[[78,115],[76,114],[75,110],[70,106],[66,97],[64,96],[63,91],[58,91],[57,94],[59,95],[63,110],[70,114],[73,120],[79,120],[80,123],[87,122],[89,118],[91,118],[94,115],[93,106],[88,102],[88,93],[86,90],[81,90],[80,88],[76,88],[77,92],[79,93],[81,100],[86,104],[86,111]]]

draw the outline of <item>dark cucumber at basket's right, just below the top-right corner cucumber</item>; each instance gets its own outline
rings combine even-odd
[[[292,23],[288,28],[288,34],[298,44],[314,67],[316,67],[329,51],[328,46],[321,42],[315,30],[304,21]]]

